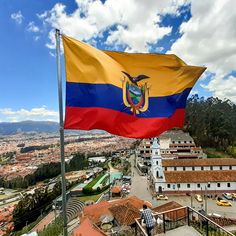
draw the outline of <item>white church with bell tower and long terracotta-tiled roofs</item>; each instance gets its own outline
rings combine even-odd
[[[164,159],[155,139],[150,175],[158,193],[236,192],[236,159]]]

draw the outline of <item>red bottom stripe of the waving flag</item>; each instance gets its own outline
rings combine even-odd
[[[185,109],[171,117],[139,118],[107,108],[66,107],[65,129],[101,129],[129,138],[159,136],[173,127],[183,127]]]

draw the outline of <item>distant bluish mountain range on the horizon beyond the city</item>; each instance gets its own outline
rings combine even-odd
[[[0,122],[0,135],[13,135],[17,133],[59,133],[59,124],[52,121],[21,121],[21,122]],[[92,133],[104,133],[100,130],[86,131],[67,131],[66,133],[78,133],[79,135]]]

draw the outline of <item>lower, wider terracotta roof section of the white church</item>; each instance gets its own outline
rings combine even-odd
[[[164,171],[167,183],[234,182],[236,170]]]

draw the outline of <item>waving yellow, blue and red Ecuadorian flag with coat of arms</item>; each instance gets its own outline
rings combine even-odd
[[[101,51],[63,36],[65,129],[149,138],[184,124],[188,94],[204,67],[175,55]]]

